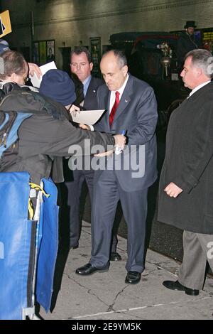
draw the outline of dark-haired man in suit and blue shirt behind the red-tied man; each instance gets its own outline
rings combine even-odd
[[[75,91],[77,98],[75,105],[83,107],[87,110],[98,109],[97,105],[97,89],[104,84],[102,79],[93,77],[91,71],[93,68],[91,54],[84,46],[80,46],[72,50],[70,54],[70,70],[74,78]],[[71,171],[70,171],[71,173]],[[65,183],[68,191],[67,204],[70,208],[70,247],[77,248],[80,239],[80,195],[82,192],[82,183],[87,182],[90,200],[92,202],[93,176],[92,168],[75,169],[72,171],[73,181]],[[116,252],[117,238],[114,236],[111,247],[111,260],[117,261],[121,256]]]

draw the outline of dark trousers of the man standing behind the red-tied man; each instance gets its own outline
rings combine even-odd
[[[82,184],[84,180],[86,180],[87,183],[89,198],[92,205],[94,171],[75,170],[72,171],[72,176],[73,181],[65,182],[65,187],[67,188],[67,206],[70,208],[70,247],[77,245],[80,239],[80,195],[82,192]],[[111,252],[116,252],[116,246],[118,243],[116,230],[114,231],[113,237],[111,239]]]

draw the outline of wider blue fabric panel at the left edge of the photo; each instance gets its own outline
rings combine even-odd
[[[27,307],[33,224],[28,220],[28,182],[26,172],[0,173],[0,319],[21,319]]]

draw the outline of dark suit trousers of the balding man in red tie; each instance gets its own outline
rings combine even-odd
[[[107,266],[109,263],[111,230],[116,206],[121,200],[128,226],[126,270],[142,272],[148,189],[127,192],[119,185],[114,171],[103,171],[94,182],[93,191],[92,257],[89,262],[97,268]]]

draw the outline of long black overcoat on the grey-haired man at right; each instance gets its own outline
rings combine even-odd
[[[213,82],[197,90],[170,117],[160,175],[158,220],[213,234]],[[170,198],[170,182],[183,191]]]

